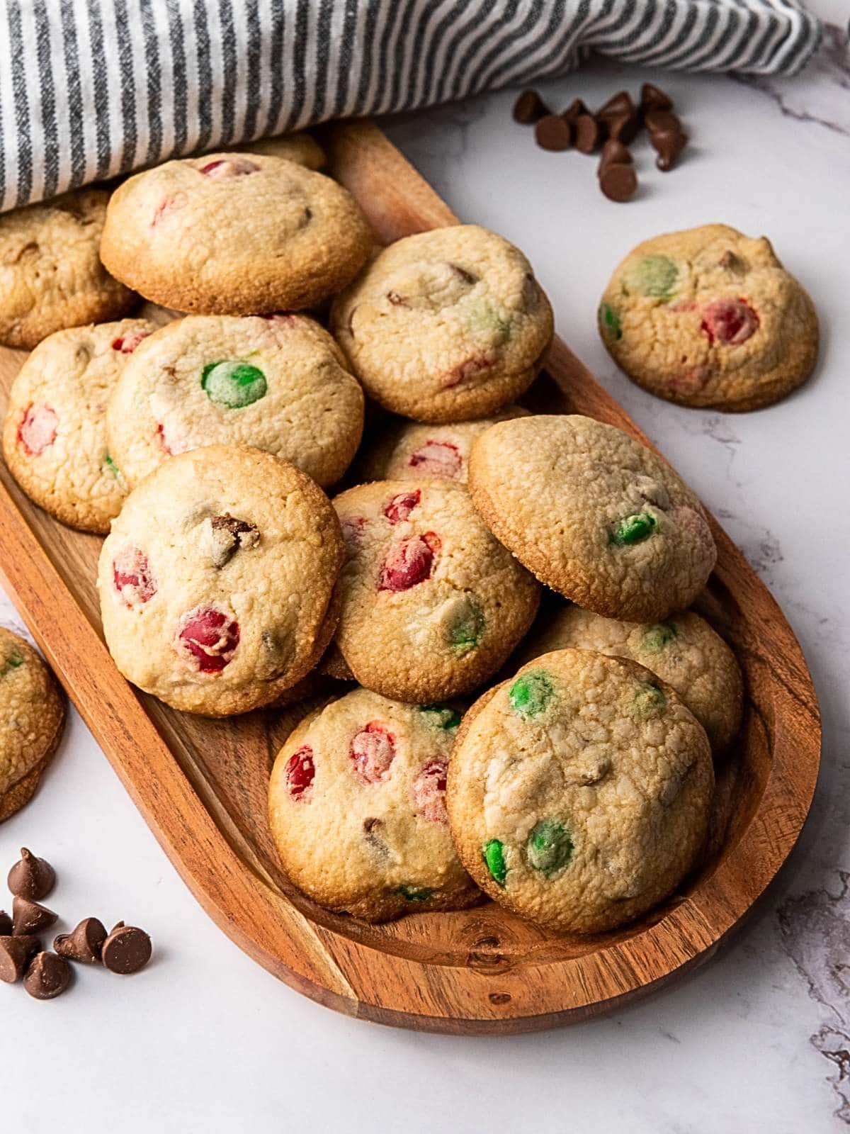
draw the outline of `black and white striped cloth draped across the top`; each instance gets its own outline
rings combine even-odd
[[[528,83],[590,51],[791,74],[794,0],[0,0],[0,212],[170,156]]]

